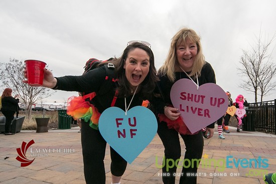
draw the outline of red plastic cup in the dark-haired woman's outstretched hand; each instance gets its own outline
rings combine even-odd
[[[27,80],[30,86],[42,86],[46,63],[38,60],[26,60]]]

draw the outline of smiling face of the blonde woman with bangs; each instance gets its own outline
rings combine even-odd
[[[197,45],[190,39],[186,43],[182,42],[176,47],[176,55],[179,66],[185,71],[192,71],[194,61],[197,55]]]

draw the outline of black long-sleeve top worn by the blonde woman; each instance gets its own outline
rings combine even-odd
[[[184,72],[176,72],[176,81],[179,79],[190,79]],[[153,101],[155,113],[164,114],[164,107],[168,105],[172,105],[170,92],[173,84],[175,82],[171,82],[167,75],[159,76],[160,81],[156,87],[155,93],[158,94],[158,98],[155,98]],[[196,79],[194,79],[195,83],[197,83]],[[212,66],[206,62],[202,67],[201,74],[198,77],[199,86],[205,83],[216,83],[215,72]],[[162,94],[160,93],[162,92]],[[215,123],[208,125],[209,128],[214,128]]]

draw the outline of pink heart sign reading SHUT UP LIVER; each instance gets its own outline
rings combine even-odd
[[[170,95],[191,133],[217,121],[228,107],[227,95],[214,83],[203,84],[197,89],[191,80],[180,79],[172,86]]]

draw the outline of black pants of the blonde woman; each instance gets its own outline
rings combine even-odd
[[[172,159],[175,162],[181,156],[179,133],[175,129],[169,129],[166,122],[158,123],[157,132],[165,147],[165,159]],[[186,168],[188,163],[184,162],[185,167],[182,167],[182,173],[176,173],[177,165],[172,167],[171,163],[167,164],[167,161],[165,160],[165,165],[162,168],[162,180],[165,184],[174,184],[175,175],[180,175],[179,183],[196,184],[197,164],[199,164],[199,159],[201,159],[204,145],[202,132],[199,131],[199,133],[194,135],[180,135],[186,146],[184,159],[189,160],[191,162],[191,166]],[[196,160],[192,161],[192,159],[196,159],[198,162]],[[192,166],[192,164],[194,166]]]

